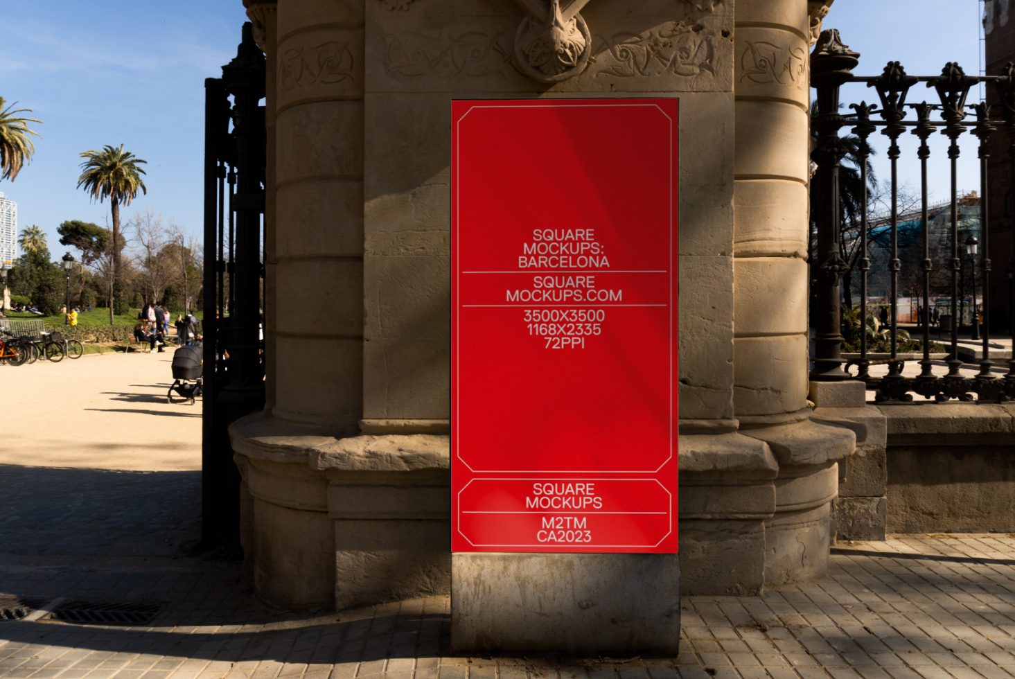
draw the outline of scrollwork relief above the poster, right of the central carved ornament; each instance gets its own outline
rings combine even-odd
[[[691,30],[676,22],[647,33],[617,33],[597,39],[597,43],[599,40],[605,43],[612,59],[604,59],[601,54],[594,58],[598,64],[596,77],[666,74],[694,77],[702,73],[715,75],[718,66],[717,36],[707,30]]]

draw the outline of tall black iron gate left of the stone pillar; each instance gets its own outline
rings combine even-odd
[[[264,406],[265,57],[245,23],[235,58],[205,80],[202,542],[239,545],[229,424]]]

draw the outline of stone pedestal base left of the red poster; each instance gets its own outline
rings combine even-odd
[[[448,592],[448,436],[336,438],[264,413],[230,434],[260,598],[341,610]]]

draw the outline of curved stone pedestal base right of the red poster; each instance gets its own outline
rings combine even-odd
[[[821,574],[835,463],[855,449],[853,428],[802,415],[735,432],[681,434],[681,592],[752,595]]]

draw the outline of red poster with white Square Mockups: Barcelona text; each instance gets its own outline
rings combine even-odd
[[[677,99],[452,125],[452,550],[675,553]]]

